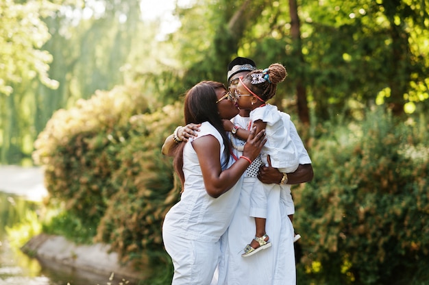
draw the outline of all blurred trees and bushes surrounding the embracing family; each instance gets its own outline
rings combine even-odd
[[[42,167],[38,232],[109,243],[151,264],[142,284],[169,284],[160,225],[180,189],[160,147],[183,95],[227,84],[236,56],[280,62],[269,103],[315,171],[292,188],[299,284],[429,284],[428,13],[428,0],[3,0],[0,164]]]

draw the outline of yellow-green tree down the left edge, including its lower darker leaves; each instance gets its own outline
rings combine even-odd
[[[31,117],[23,101],[27,96],[19,88],[38,77],[49,88],[58,87],[58,82],[49,78],[49,62],[52,57],[42,51],[49,40],[47,25],[42,18],[56,10],[58,5],[47,0],[15,3],[4,0],[0,3],[0,163],[19,156],[17,146],[25,140],[21,123],[15,114],[25,121]],[[24,131],[25,132],[25,131]],[[31,131],[30,131],[31,132]],[[28,133],[28,131],[27,131]],[[18,143],[18,144],[17,144]]]

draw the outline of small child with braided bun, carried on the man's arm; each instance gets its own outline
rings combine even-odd
[[[258,131],[265,129],[267,133],[267,143],[261,151],[262,162],[268,164],[267,156],[270,156],[271,165],[279,169],[282,173],[294,172],[299,160],[297,150],[289,134],[290,116],[278,111],[277,107],[267,104],[266,101],[274,97],[277,84],[286,77],[286,69],[282,64],[271,64],[268,69],[252,71],[241,77],[236,87],[236,99],[238,107],[250,109],[250,121],[256,125]],[[240,129],[235,135],[245,140],[248,132]],[[287,182],[287,175],[280,183],[281,199],[291,199],[291,195],[285,195],[285,191],[290,191],[284,186]],[[286,180],[286,181],[285,181]],[[271,247],[269,236],[265,232],[267,217],[267,196],[277,184],[262,184],[256,180],[251,196],[250,216],[254,216],[256,223],[256,235],[252,243],[244,249],[243,257],[252,256],[262,249]],[[293,203],[293,201],[286,201]]]

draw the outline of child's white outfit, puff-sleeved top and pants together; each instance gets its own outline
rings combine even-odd
[[[250,112],[250,120],[252,122],[261,120],[267,124],[265,127],[267,143],[260,153],[262,162],[268,164],[267,156],[270,156],[271,166],[275,167],[280,172],[291,173],[297,170],[299,157],[291,138],[291,116],[279,112],[276,106],[266,104],[265,106],[252,110],[252,112]],[[290,187],[278,184],[264,184],[257,180],[254,184],[252,195],[250,196],[251,208],[249,215],[266,219],[269,205],[267,197],[273,189],[278,188],[280,188],[280,198],[284,199],[284,203],[293,206]]]

